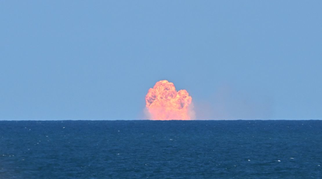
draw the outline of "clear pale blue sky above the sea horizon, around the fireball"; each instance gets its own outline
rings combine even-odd
[[[0,120],[322,119],[322,1],[0,1]]]

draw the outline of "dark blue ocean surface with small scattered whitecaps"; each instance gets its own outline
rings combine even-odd
[[[0,121],[7,178],[322,178],[322,121]]]

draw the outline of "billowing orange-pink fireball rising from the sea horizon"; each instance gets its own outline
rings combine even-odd
[[[152,120],[190,120],[194,118],[192,98],[186,90],[175,90],[167,80],[156,82],[145,96],[146,107]]]

